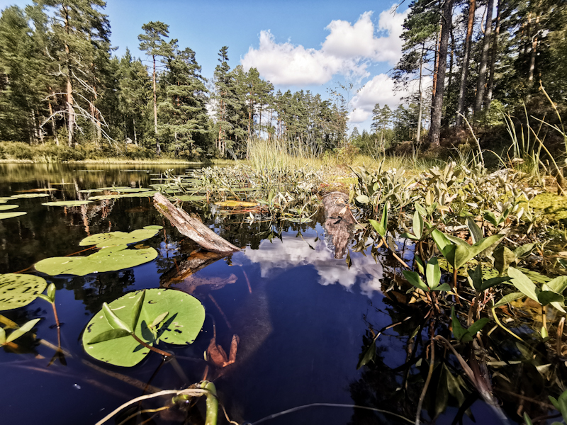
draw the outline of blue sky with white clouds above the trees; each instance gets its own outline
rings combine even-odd
[[[30,0],[0,0],[0,8]],[[150,64],[138,50],[137,35],[149,21],[169,25],[179,48],[191,47],[212,79],[220,47],[228,46],[230,67],[256,67],[276,91],[310,90],[327,97],[338,84],[353,84],[349,93],[349,128],[369,130],[376,103],[392,109],[405,92],[394,91],[388,77],[401,55],[403,3],[393,11],[388,0],[108,0],[111,43],[126,47]]]

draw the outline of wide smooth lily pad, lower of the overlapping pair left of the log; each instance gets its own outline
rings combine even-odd
[[[110,246],[89,256],[52,257],[35,263],[35,270],[50,276],[86,276],[139,266],[157,257],[153,248],[126,248],[126,245]]]

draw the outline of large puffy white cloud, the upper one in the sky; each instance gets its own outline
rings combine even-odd
[[[249,47],[240,62],[245,69],[256,67],[265,79],[274,84],[308,86],[325,84],[335,74],[350,78],[369,77],[371,62],[395,64],[401,55],[402,23],[407,11],[391,14],[383,11],[378,18],[378,31],[372,12],[363,13],[354,24],[331,21],[329,35],[320,49],[277,43],[269,30],[259,36],[259,46]],[[377,32],[384,35],[376,36]]]

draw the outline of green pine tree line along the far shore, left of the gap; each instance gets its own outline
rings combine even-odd
[[[254,138],[285,140],[321,154],[344,142],[347,105],[310,91],[274,92],[255,68],[228,65],[218,53],[212,81],[195,52],[145,23],[138,40],[150,66],[127,49],[113,55],[102,0],[38,0],[0,16],[0,140],[47,138],[132,145],[188,156],[244,157]],[[339,96],[340,97],[340,96]]]

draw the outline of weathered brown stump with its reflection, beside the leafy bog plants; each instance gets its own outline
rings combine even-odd
[[[325,206],[325,230],[335,249],[335,259],[342,259],[347,253],[354,225],[354,217],[349,209],[349,196],[342,192],[331,192],[323,198]],[[327,242],[331,242],[327,239]]]

